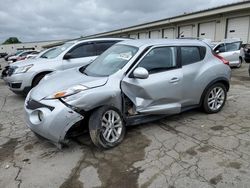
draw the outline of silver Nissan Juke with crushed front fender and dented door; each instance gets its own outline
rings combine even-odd
[[[96,146],[112,148],[126,126],[197,107],[219,112],[230,85],[227,63],[198,40],[123,41],[88,66],[45,76],[25,100],[27,126],[57,145],[88,126]]]

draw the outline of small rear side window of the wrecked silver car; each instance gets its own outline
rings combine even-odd
[[[204,59],[206,55],[205,47],[185,46],[181,47],[182,66],[196,63]]]

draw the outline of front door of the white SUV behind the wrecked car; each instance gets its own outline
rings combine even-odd
[[[96,49],[93,42],[78,44],[69,50],[71,58],[63,59],[63,69],[80,67],[96,59]]]

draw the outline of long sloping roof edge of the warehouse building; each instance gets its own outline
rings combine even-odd
[[[222,14],[222,13],[227,13],[227,12],[232,12],[232,11],[237,11],[237,10],[244,10],[244,9],[250,9],[250,1],[241,1],[237,3],[213,7],[213,8],[209,8],[209,9],[205,9],[201,11],[184,13],[178,16],[168,17],[168,18],[164,18],[164,19],[160,19],[160,20],[156,20],[152,22],[147,22],[143,24],[138,24],[138,25],[134,25],[130,27],[125,27],[125,28],[121,28],[117,30],[112,30],[108,32],[97,33],[97,34],[89,35],[86,37],[87,38],[99,37],[99,36],[107,36],[107,35],[112,35],[112,34],[124,33],[124,32],[134,31],[138,29],[157,27],[163,24],[170,24],[170,23],[175,23],[175,22],[180,22],[180,21],[191,20],[191,19],[195,19],[199,17],[211,16],[215,14]]]

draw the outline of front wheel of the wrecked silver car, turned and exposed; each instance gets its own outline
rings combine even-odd
[[[112,117],[113,122],[112,123]],[[126,128],[121,113],[114,107],[103,106],[95,110],[89,118],[89,133],[92,142],[99,148],[110,149],[119,145]]]

